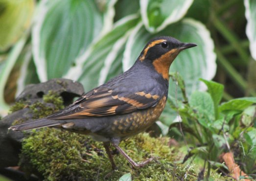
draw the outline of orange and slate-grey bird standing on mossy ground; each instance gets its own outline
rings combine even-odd
[[[158,120],[167,100],[169,68],[182,50],[194,46],[197,45],[182,43],[169,36],[155,37],[145,45],[127,71],[84,93],[57,113],[9,129],[25,131],[53,127],[89,135],[103,142],[113,170],[116,164],[110,144],[134,168],[143,167],[154,158],[137,163],[119,147],[119,143],[145,131]]]

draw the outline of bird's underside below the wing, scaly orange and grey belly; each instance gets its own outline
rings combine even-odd
[[[72,124],[64,124],[65,126],[62,128],[71,132],[90,135],[96,141],[107,142],[113,137],[125,139],[143,132],[151,126],[163,112],[165,103],[166,97],[163,97],[155,107],[133,113],[90,119],[70,119]]]

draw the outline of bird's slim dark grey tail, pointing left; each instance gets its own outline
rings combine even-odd
[[[41,118],[41,119],[36,119],[33,121],[25,122],[22,124],[18,124],[15,126],[11,126],[9,130],[13,131],[24,131],[24,130],[32,130],[32,129],[37,129],[37,128],[44,128],[44,127],[51,127],[51,126],[57,126],[61,125],[60,120],[51,120],[47,118]]]

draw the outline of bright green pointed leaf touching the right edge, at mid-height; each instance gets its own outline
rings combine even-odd
[[[251,106],[252,104],[256,103],[256,97],[242,97],[237,99],[232,99],[228,102],[221,104],[219,107],[219,111],[223,112],[226,110],[237,110],[243,111],[247,107]]]

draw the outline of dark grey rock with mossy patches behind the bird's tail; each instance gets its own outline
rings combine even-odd
[[[23,132],[8,131],[13,122],[33,120],[35,112],[31,109],[35,104],[36,106],[40,104],[47,105],[47,109],[53,111],[57,109],[53,103],[46,103],[43,100],[44,95],[47,95],[50,91],[53,91],[57,96],[61,96],[64,105],[70,104],[74,97],[81,96],[84,93],[83,86],[80,83],[62,78],[26,86],[16,99],[18,103],[13,107],[13,113],[0,120],[0,168],[17,166],[19,162],[21,141],[24,134]],[[38,109],[37,112],[40,112],[41,108],[39,106],[36,108]]]

